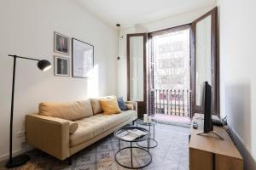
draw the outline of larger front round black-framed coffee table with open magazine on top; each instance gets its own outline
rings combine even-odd
[[[119,136],[121,133],[124,133],[127,130],[134,130],[134,129],[141,130],[148,134],[134,140],[125,140]],[[130,169],[138,169],[138,168],[147,167],[151,163],[152,156],[149,153],[150,133],[147,129],[143,127],[134,127],[134,126],[122,127],[116,132],[114,132],[113,135],[114,135],[114,138],[119,140],[119,150],[116,152],[114,159],[120,166],[130,168]],[[127,144],[128,146],[121,148],[121,144],[120,144],[121,141],[128,143]],[[141,141],[147,141],[148,143],[148,147],[146,147],[147,150],[144,149],[143,147],[132,146],[132,143],[137,143]]]

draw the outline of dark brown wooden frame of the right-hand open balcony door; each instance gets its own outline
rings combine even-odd
[[[201,112],[199,105],[196,105],[195,96],[195,61],[196,61],[196,45],[195,45],[195,25],[197,22],[212,15],[211,20],[211,70],[212,70],[212,113],[219,115],[219,59],[218,59],[218,7],[212,8],[207,14],[202,15],[197,20],[191,23],[190,37],[190,53],[191,53],[191,80],[190,87],[192,91],[192,115]]]

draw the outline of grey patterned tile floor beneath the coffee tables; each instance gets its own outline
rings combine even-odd
[[[141,126],[143,127],[143,126]],[[155,126],[155,139],[158,146],[150,149],[152,162],[148,170],[188,170],[189,169],[189,128],[177,127],[166,124]],[[121,147],[128,144],[121,142]],[[137,144],[134,144],[136,146]],[[67,161],[59,161],[53,156],[49,156],[40,150],[31,150],[28,155],[31,161],[26,165],[15,168],[17,170],[122,170],[114,161],[115,153],[118,150],[118,140],[113,134],[90,145],[73,156],[73,164],[68,166]],[[130,152],[122,153],[123,161],[130,163]],[[145,152],[134,150],[134,163],[137,165],[148,161],[149,157]],[[0,164],[0,169],[5,169],[4,162]]]

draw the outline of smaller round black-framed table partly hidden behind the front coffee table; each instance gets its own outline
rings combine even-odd
[[[154,120],[151,120],[151,122],[143,122],[142,119],[137,119],[137,125],[138,124],[143,126],[148,126],[149,133],[151,133],[151,127],[153,127],[153,133],[151,133],[153,135],[153,138],[151,138],[151,136],[149,137],[149,148],[155,148],[158,144],[157,141],[154,139],[154,126],[157,124],[157,122]],[[137,142],[137,145],[143,148],[147,148],[147,145],[143,141]]]

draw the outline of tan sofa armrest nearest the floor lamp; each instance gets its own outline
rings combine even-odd
[[[26,115],[26,141],[60,160],[69,154],[69,122],[64,119]]]

